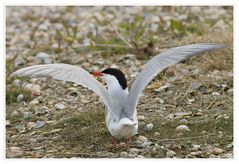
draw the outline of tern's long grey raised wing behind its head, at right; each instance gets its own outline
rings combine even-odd
[[[132,84],[125,105],[126,106],[125,112],[127,113],[127,115],[133,118],[140,93],[149,84],[149,82],[161,71],[163,71],[164,69],[173,64],[176,64],[182,60],[195,56],[199,53],[216,50],[224,47],[225,46],[222,44],[214,44],[214,43],[190,44],[171,48],[153,57],[146,63],[143,70]]]

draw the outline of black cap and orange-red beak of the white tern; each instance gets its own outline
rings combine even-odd
[[[127,81],[125,75],[122,71],[116,68],[106,68],[101,72],[93,71],[91,74],[94,76],[104,76],[104,74],[115,76],[116,79],[119,81],[119,84],[123,89],[127,88]]]

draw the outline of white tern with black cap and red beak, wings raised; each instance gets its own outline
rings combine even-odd
[[[136,105],[140,93],[156,75],[182,60],[224,47],[222,44],[199,43],[170,48],[146,63],[133,82],[130,92],[124,74],[114,68],[92,72],[94,76],[101,76],[106,81],[107,89],[83,68],[62,63],[22,68],[12,73],[12,76],[52,77],[74,82],[94,91],[106,105],[105,120],[110,134],[117,139],[130,139],[138,132]]]

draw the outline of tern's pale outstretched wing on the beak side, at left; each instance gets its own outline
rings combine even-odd
[[[94,91],[109,109],[111,107],[109,94],[104,86],[86,70],[77,66],[63,63],[35,65],[13,72],[11,76],[52,77],[56,80],[74,82]]]

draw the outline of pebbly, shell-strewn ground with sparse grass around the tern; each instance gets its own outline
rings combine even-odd
[[[233,10],[225,7],[7,7],[7,158],[233,158]],[[141,96],[139,134],[115,149],[93,92],[19,68],[69,63],[120,68],[128,85],[154,55],[219,42],[179,63]],[[99,79],[100,80],[100,79]],[[125,141],[120,141],[124,144]]]

